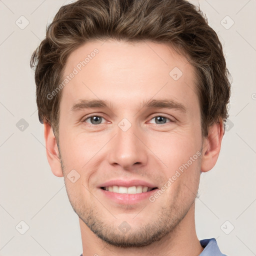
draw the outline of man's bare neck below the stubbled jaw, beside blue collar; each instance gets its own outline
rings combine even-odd
[[[194,223],[194,203],[185,217],[167,235],[152,244],[143,247],[121,248],[107,244],[98,238],[87,225],[79,218],[83,256],[98,255],[122,255],[137,256],[161,255],[161,256],[198,256],[203,248],[196,236]],[[149,253],[150,252],[150,253]]]

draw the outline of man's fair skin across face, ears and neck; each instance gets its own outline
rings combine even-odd
[[[202,137],[194,68],[166,44],[90,41],[70,54],[64,75],[94,48],[99,52],[61,91],[58,146],[44,123],[51,170],[64,177],[79,216],[83,255],[199,255],[194,199],[200,173],[216,163],[222,121]],[[174,67],[183,73],[177,80],[169,75]],[[111,104],[72,111],[82,99]],[[150,99],[175,100],[185,112],[141,107]],[[103,117],[101,123],[93,124],[91,114]],[[123,118],[131,124],[127,131],[118,126]],[[200,157],[153,202],[116,203],[98,187],[112,179],[140,179],[159,189],[196,152]],[[67,178],[72,169],[80,175],[74,183]],[[118,228],[123,221],[130,228],[126,233]]]

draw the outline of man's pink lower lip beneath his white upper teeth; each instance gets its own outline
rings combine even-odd
[[[141,200],[147,199],[150,195],[155,193],[158,189],[153,189],[151,191],[137,193],[137,194],[119,194],[115,192],[109,192],[104,189],[99,188],[102,193],[118,204],[135,204]]]

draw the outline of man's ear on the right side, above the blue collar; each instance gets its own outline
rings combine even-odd
[[[206,172],[215,165],[224,134],[223,121],[212,124],[209,128],[208,136],[203,138],[201,171]]]

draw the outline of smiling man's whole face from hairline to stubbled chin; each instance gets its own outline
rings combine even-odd
[[[159,240],[191,211],[198,188],[194,68],[166,44],[109,40],[73,51],[64,76],[71,72],[60,101],[59,149],[74,211],[111,244]],[[67,178],[73,169],[75,182]]]

